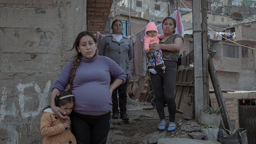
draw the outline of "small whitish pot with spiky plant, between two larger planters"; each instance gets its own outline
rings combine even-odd
[[[215,125],[201,125],[201,133],[204,140],[218,140],[219,127]]]

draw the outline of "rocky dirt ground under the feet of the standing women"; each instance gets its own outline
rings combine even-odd
[[[167,115],[166,118],[168,119],[167,107],[164,110]],[[157,143],[160,138],[164,138],[161,143],[170,143],[174,142],[174,140],[178,142],[191,139],[191,141],[193,141],[193,137],[198,139],[202,138],[200,132],[196,133],[197,131],[201,131],[200,125],[197,125],[196,122],[191,120],[183,119],[182,113],[176,113],[175,121],[177,130],[173,132],[157,130],[159,117],[156,108],[152,107],[150,103],[139,102],[128,98],[127,114],[130,118],[129,121],[111,118],[111,126],[107,140],[108,144]],[[204,140],[198,141],[207,142]],[[195,143],[198,143],[198,141],[195,141]],[[209,143],[209,141],[207,143]],[[211,141],[211,143],[217,143],[217,141]]]

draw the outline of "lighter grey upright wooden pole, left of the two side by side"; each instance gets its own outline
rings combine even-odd
[[[204,109],[203,63],[200,0],[192,1],[193,10],[193,45],[194,45],[194,83],[195,83],[195,120],[198,121],[200,110]]]

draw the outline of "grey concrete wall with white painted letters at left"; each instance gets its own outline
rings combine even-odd
[[[41,143],[41,111],[50,104],[62,67],[74,56],[64,49],[71,49],[87,28],[86,4],[0,1],[0,143]]]

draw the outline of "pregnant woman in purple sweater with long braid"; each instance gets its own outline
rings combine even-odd
[[[124,70],[110,58],[99,56],[96,45],[92,33],[83,31],[78,34],[72,47],[77,55],[63,68],[52,86],[51,109],[60,118],[68,119],[65,112],[55,105],[54,97],[71,85],[75,99],[71,128],[77,143],[106,143],[112,109],[111,95],[126,81]],[[110,76],[115,81],[109,86]]]

